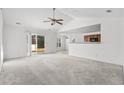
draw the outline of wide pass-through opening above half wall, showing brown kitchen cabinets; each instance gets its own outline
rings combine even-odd
[[[70,43],[99,44],[101,42],[101,24],[83,26],[62,33],[69,37]]]

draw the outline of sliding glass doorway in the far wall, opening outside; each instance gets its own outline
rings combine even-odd
[[[31,54],[41,54],[45,51],[44,36],[32,34],[31,35]]]

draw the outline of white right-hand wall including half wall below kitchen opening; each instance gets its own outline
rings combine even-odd
[[[101,44],[69,44],[69,55],[84,57],[113,64],[124,64],[122,60],[122,19],[92,19],[87,21],[86,25],[91,23],[101,23]],[[85,25],[85,22],[78,22]],[[75,23],[77,24],[77,23]],[[77,24],[78,25],[78,24]],[[124,41],[124,40],[123,40]]]

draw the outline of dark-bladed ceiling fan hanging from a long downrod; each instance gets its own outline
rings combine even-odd
[[[60,21],[63,21],[63,19],[56,19],[55,18],[55,10],[56,10],[56,8],[53,8],[53,17],[52,18],[51,17],[48,17],[49,20],[43,21],[43,22],[50,22],[51,25],[55,25],[56,23],[57,24],[60,24],[60,25],[63,25],[63,23],[60,22]]]

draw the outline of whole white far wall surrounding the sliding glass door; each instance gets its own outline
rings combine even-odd
[[[45,36],[45,53],[56,52],[56,33],[41,30],[26,30],[19,26],[4,26],[4,58],[25,57],[28,53],[27,33]]]

